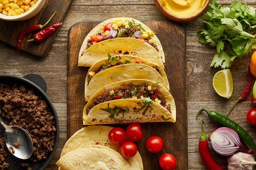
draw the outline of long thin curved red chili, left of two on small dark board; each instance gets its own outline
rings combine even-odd
[[[52,17],[55,14],[56,14],[56,11],[52,15]],[[18,51],[19,54],[20,54],[20,45],[21,45],[21,42],[22,42],[23,38],[25,37],[25,35],[33,32],[35,30],[44,28],[44,26],[46,26],[49,23],[49,21],[52,19],[52,17],[50,17],[50,19],[44,25],[38,24],[38,25],[35,25],[35,26],[31,26],[31,27],[26,28],[24,31],[21,32],[20,37],[17,41],[17,45],[16,45],[16,48],[17,48],[17,51]]]

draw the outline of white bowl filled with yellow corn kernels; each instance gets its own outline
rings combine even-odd
[[[34,17],[46,0],[0,0],[0,19],[22,21]]]

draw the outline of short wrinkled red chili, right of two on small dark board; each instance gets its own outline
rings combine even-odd
[[[54,24],[52,26],[49,26],[48,28],[43,29],[42,31],[39,31],[38,33],[36,33],[34,35],[33,39],[27,40],[27,42],[30,42],[30,41],[40,42],[40,41],[46,39],[47,37],[52,35],[61,24],[62,23]]]

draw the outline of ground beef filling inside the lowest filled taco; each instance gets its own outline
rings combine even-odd
[[[132,83],[129,83],[128,85],[121,85],[121,89],[114,89],[114,93],[120,96],[120,98],[122,99],[131,99],[132,96],[137,96],[138,99],[140,99],[140,96],[143,96],[143,97],[150,96],[151,100],[154,101],[154,99],[157,98],[161,100],[160,105],[162,105],[169,112],[171,112],[171,109],[170,109],[171,105],[170,104],[166,105],[166,99],[158,90],[159,90],[158,86],[153,86],[152,91],[154,93],[157,92],[157,95],[155,97],[152,97],[150,91],[148,91],[147,86],[139,87],[139,86],[133,85]],[[134,92],[135,94],[133,94],[132,92]],[[96,98],[93,99],[93,103],[94,105],[98,105],[100,103],[115,100],[115,99],[116,99],[115,95],[110,95],[108,93],[105,99],[101,95],[97,96]],[[86,111],[87,114],[90,112],[91,108],[93,108],[93,105],[89,106],[89,108]]]

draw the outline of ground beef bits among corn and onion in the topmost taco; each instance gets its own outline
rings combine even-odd
[[[131,24],[129,24],[130,26],[131,26]],[[123,31],[123,28],[121,28],[120,29],[120,32],[122,32]],[[132,26],[131,27],[131,29],[125,29],[125,32],[121,35],[121,36],[118,36],[118,35],[116,35],[116,37],[115,38],[121,38],[121,37],[131,37],[131,38],[136,38],[135,36],[134,36],[134,32],[135,31],[140,31],[140,27],[136,27],[136,26]],[[102,32],[103,33],[103,32]],[[97,35],[101,35],[101,33],[98,33]],[[108,39],[112,39],[113,37],[112,36],[110,36]],[[148,40],[149,40],[150,38],[145,38],[144,39],[144,41],[145,42],[148,42]],[[89,39],[88,41],[87,41],[87,48],[89,48],[90,46],[92,46],[93,45],[93,40],[91,40],[91,39]],[[159,49],[157,48],[157,45],[156,44],[154,44],[154,43],[152,43],[152,44],[150,44],[152,47],[154,47],[157,51],[159,51]],[[87,49],[86,48],[86,49]]]

